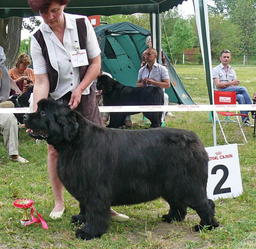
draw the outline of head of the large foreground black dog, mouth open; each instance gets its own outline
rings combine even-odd
[[[53,100],[42,99],[35,113],[23,116],[26,127],[32,129],[29,135],[36,139],[45,139],[48,144],[70,142],[78,131],[76,115],[67,105]]]

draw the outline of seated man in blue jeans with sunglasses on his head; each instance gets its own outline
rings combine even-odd
[[[237,80],[234,69],[228,65],[230,59],[230,51],[227,49],[222,50],[220,53],[220,65],[212,69],[215,90],[224,92],[234,91],[236,92],[236,101],[238,104],[252,104],[247,89],[238,86],[240,81]],[[248,111],[240,111],[240,113],[248,115]],[[242,122],[244,126],[254,126],[250,123],[249,116],[247,118],[242,117]]]

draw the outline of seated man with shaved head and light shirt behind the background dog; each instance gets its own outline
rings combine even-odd
[[[169,73],[166,67],[156,62],[157,51],[154,48],[148,48],[145,53],[146,65],[141,67],[138,73],[137,87],[160,87],[164,89],[170,88]],[[164,105],[168,105],[169,97],[164,93]],[[161,122],[164,123],[165,113],[163,112]]]

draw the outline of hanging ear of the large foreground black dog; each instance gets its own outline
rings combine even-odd
[[[63,127],[63,135],[69,142],[76,136],[78,130],[78,123],[76,122],[76,115],[73,111],[68,114],[56,116],[57,123]]]

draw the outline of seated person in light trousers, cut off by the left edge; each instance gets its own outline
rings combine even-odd
[[[6,60],[4,49],[0,46],[0,64]],[[6,67],[0,65],[0,108],[14,107],[12,101],[8,101],[10,89],[22,95],[22,92],[11,79]],[[13,113],[1,113],[0,133],[4,137],[4,147],[9,159],[14,162],[28,163],[28,160],[19,156],[18,152],[18,121]]]

